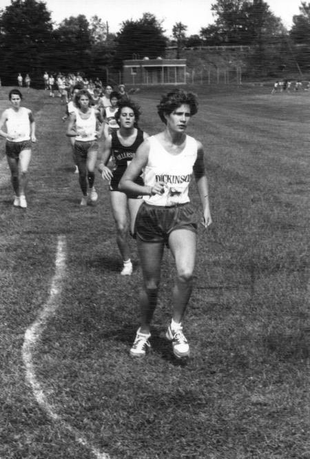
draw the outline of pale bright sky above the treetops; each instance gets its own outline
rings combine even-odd
[[[265,0],[270,10],[291,28],[292,17],[299,14],[301,0]],[[176,22],[187,26],[187,36],[199,34],[200,28],[213,22],[211,4],[216,0],[45,0],[52,20],[59,23],[66,17],[85,14],[87,19],[95,14],[109,24],[110,32],[118,32],[127,19],[140,19],[150,12],[163,21],[165,35],[172,35]],[[10,0],[0,0],[0,9],[10,5]]]

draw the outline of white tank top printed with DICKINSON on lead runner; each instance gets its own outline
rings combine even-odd
[[[185,147],[179,154],[171,154],[165,150],[155,136],[149,137],[149,158],[143,170],[145,185],[153,186],[156,182],[165,183],[163,194],[143,196],[148,204],[165,205],[189,202],[188,190],[192,179],[193,165],[197,158],[197,142],[186,136]]]

